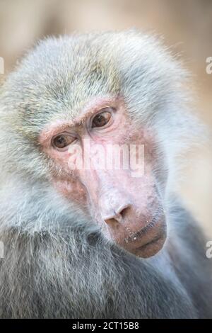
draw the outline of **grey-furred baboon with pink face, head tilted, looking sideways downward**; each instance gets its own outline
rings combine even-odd
[[[0,317],[212,317],[206,242],[175,193],[196,128],[186,87],[179,60],[135,30],[47,38],[8,75]],[[143,172],[116,156],[97,167],[114,146],[143,147]]]

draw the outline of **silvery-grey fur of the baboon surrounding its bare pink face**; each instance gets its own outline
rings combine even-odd
[[[186,78],[156,38],[135,31],[49,38],[9,75],[0,101],[0,317],[212,317],[205,241],[170,191],[175,155],[195,124],[184,112]],[[49,183],[54,162],[37,136],[100,94],[124,96],[163,152],[169,235],[151,259],[108,242]]]

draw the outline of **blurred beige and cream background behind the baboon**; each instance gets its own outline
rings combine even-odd
[[[212,57],[212,0],[0,0],[0,57],[5,63],[0,81],[46,35],[132,27],[163,35],[179,52],[193,74],[196,112],[212,132],[212,74],[206,74],[206,58]],[[211,140],[187,154],[186,162],[179,191],[209,240]]]

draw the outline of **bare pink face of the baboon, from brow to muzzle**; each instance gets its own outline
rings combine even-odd
[[[58,147],[59,135],[63,135],[62,140],[65,137],[65,147]],[[108,144],[144,145],[144,174],[134,177],[131,168],[124,169],[122,163],[120,169],[98,169],[95,163],[99,155],[95,152],[89,155],[90,168],[70,170],[70,147],[79,147],[85,153],[86,140],[91,149],[98,144],[105,152]],[[51,171],[57,191],[81,205],[108,239],[143,258],[153,256],[163,247],[165,213],[153,176],[153,135],[144,128],[135,129],[122,100],[90,101],[74,123],[61,121],[48,125],[40,135],[40,145],[62,170]]]

